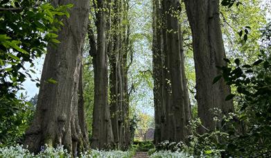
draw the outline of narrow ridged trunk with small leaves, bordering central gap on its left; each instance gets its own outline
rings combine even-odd
[[[122,24],[128,20],[127,1],[119,0],[112,3],[112,50],[110,55],[110,112],[112,115],[112,129],[114,143],[117,148],[125,149],[130,144],[129,132],[129,99],[128,99],[128,27]],[[128,143],[129,141],[129,143]]]

